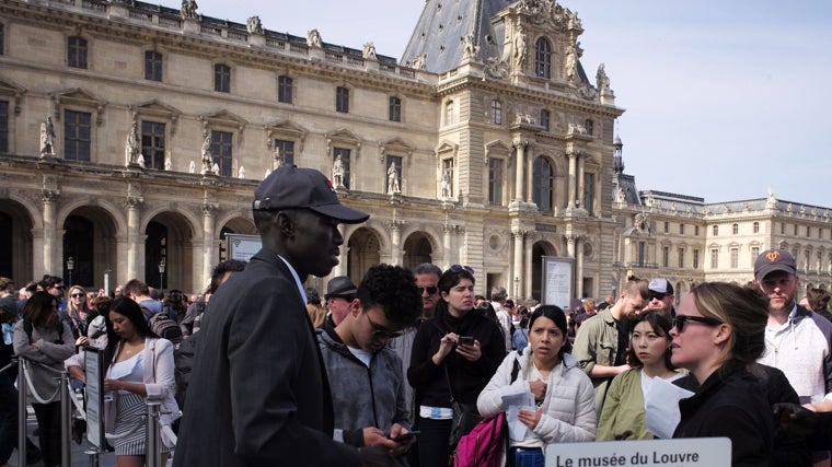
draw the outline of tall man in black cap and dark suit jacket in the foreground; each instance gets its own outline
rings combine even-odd
[[[388,450],[333,441],[303,291],[309,275],[338,264],[338,224],[369,215],[343,206],[322,173],[293,165],[257,186],[252,208],[263,248],[208,304],[174,466],[386,465]]]

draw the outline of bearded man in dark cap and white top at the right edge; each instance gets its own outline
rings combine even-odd
[[[763,252],[754,261],[754,280],[769,296],[765,353],[758,362],[783,371],[804,407],[832,412],[832,323],[795,301],[800,284],[795,257],[786,249]],[[829,458],[828,447],[812,460]]]

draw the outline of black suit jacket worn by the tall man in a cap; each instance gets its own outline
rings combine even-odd
[[[305,303],[262,249],[218,289],[196,346],[174,466],[358,466],[333,407]]]

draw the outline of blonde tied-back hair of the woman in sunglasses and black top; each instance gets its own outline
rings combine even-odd
[[[692,291],[696,308],[703,316],[731,327],[719,363],[729,359],[754,363],[765,351],[765,324],[769,302],[759,292],[728,282],[703,282]]]

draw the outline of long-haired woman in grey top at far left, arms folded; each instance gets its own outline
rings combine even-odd
[[[72,331],[58,316],[58,299],[35,292],[14,325],[14,353],[31,362],[24,369],[26,392],[35,410],[41,452],[46,467],[60,465],[60,399],[58,376],[63,360],[76,353]]]

